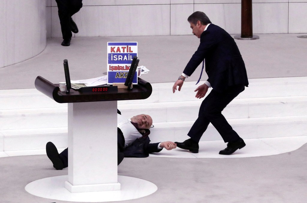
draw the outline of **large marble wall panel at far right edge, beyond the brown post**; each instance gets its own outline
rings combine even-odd
[[[307,1],[289,3],[289,33],[307,33]]]

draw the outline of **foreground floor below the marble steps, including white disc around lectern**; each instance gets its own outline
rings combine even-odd
[[[177,148],[164,149],[148,158],[125,158],[118,166],[122,190],[91,193],[69,193],[64,188],[68,168],[57,171],[46,155],[34,155],[45,154],[45,150],[1,152],[0,169],[6,171],[6,176],[2,177],[0,193],[4,202],[171,201],[168,198],[175,202],[304,202],[305,194],[293,197],[295,193],[287,191],[285,184],[292,184],[292,189],[299,191],[307,186],[300,179],[305,177],[303,154],[307,152],[307,145],[304,145],[307,136],[245,139],[245,142],[244,148],[230,156],[218,154],[225,147],[223,141],[201,141],[198,154]],[[15,166],[8,170],[12,164]],[[225,166],[232,171],[231,175],[222,173]],[[18,173],[27,174],[27,177],[19,178]],[[209,183],[210,180],[214,182]],[[251,181],[253,184],[249,185]],[[219,183],[218,187],[215,182]],[[237,185],[232,185],[234,182]],[[266,189],[277,182],[281,186]],[[244,185],[246,188],[242,188]],[[18,197],[13,198],[14,195],[8,195],[10,193]]]

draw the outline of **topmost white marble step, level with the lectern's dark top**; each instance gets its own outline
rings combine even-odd
[[[307,95],[307,77],[249,79],[250,85],[238,98],[266,98]],[[181,91],[173,94],[173,83],[153,83],[153,92],[145,100],[118,101],[118,104],[198,101],[196,82],[185,82]],[[209,90],[210,91],[210,90]],[[1,109],[64,107],[36,89],[0,90]]]

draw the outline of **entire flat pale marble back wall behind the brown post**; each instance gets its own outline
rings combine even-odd
[[[288,2],[297,3],[289,4]],[[298,2],[301,2],[300,5]],[[254,0],[253,33],[305,33],[304,27],[301,26],[301,20],[306,17],[305,3],[302,2],[307,2],[307,0]],[[51,26],[48,25],[47,18],[47,37],[61,37],[56,2],[46,0],[46,5],[52,6]],[[194,5],[193,9],[192,5]],[[156,6],[168,7],[158,8]],[[83,0],[83,8],[76,14],[76,21],[79,21],[77,24],[81,28],[80,33],[76,36],[126,36],[132,33],[137,33],[136,35],[191,34],[189,28],[185,27],[185,18],[196,10],[204,11],[214,24],[222,27],[229,34],[241,33],[241,0]],[[47,14],[48,12],[49,10]],[[153,12],[157,12],[158,15]],[[116,17],[114,13],[117,14]],[[167,14],[170,15],[170,22],[165,21],[165,18],[169,18]],[[140,17],[132,18],[135,15]],[[97,18],[102,22],[95,20]],[[145,25],[138,23],[138,27],[133,29],[132,23],[125,23],[129,18],[131,21],[142,22]],[[162,22],[161,19],[163,25],[157,26],[159,22]],[[95,22],[92,23],[93,21]],[[122,26],[113,28],[112,24],[118,22],[121,22]],[[84,29],[82,29],[83,26]]]

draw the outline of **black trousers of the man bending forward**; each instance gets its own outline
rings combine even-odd
[[[199,141],[211,122],[224,142],[238,140],[239,135],[229,125],[222,115],[222,111],[243,90],[244,85],[231,86],[222,93],[212,90],[200,105],[198,118],[190,129],[188,136],[194,141]]]

